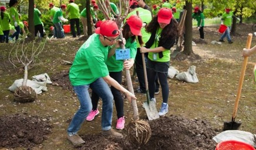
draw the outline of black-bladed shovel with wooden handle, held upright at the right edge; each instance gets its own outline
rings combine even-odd
[[[247,37],[247,43],[246,43],[246,48],[247,49],[249,49],[251,47],[251,39],[252,39],[252,34],[249,33],[248,37]],[[242,86],[243,86],[244,74],[245,74],[247,61],[248,61],[248,57],[244,57],[243,67],[242,67],[242,71],[241,71],[241,75],[240,75],[240,79],[239,79],[239,83],[238,83],[237,96],[235,97],[235,105],[234,105],[234,109],[233,109],[232,120],[224,122],[223,131],[238,130],[238,128],[242,124],[242,123],[236,123],[235,122],[235,117],[237,116],[238,102],[239,102],[239,99],[240,99],[241,90],[242,90]]]

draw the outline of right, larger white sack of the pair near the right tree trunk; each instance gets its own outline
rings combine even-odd
[[[199,82],[199,80],[196,76],[196,67],[194,65],[190,66],[186,72],[181,72],[178,75],[176,75],[176,78],[179,81],[185,81],[185,82],[190,82],[190,83]]]

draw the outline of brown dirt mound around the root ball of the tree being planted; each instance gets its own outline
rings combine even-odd
[[[216,142],[213,137],[217,132],[204,120],[186,119],[180,116],[161,117],[149,121],[152,135],[145,145],[129,142],[127,128],[122,132],[123,139],[105,138],[101,134],[84,135],[86,141],[81,148],[85,149],[214,149]],[[100,141],[100,142],[99,142]]]

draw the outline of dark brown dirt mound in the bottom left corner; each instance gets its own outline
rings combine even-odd
[[[0,116],[0,147],[32,148],[47,139],[51,128],[47,121],[37,116]]]

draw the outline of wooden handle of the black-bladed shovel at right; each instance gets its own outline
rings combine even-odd
[[[247,43],[246,43],[245,48],[249,49],[251,47],[251,39],[252,39],[252,34],[249,33],[248,37],[247,37]],[[235,117],[237,116],[238,102],[239,102],[239,99],[241,96],[241,90],[242,90],[242,86],[243,86],[243,82],[244,82],[244,75],[245,75],[247,61],[248,61],[248,57],[244,57],[244,62],[243,62],[243,66],[242,66],[242,70],[241,70],[241,74],[240,74],[239,83],[238,83],[237,96],[235,97],[235,105],[234,105],[233,114],[232,114],[232,121],[235,121]]]

